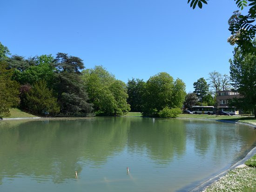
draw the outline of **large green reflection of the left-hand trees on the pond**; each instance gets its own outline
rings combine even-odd
[[[86,163],[99,166],[122,151],[126,120],[29,121],[12,129],[1,127],[0,171],[8,176],[36,176],[38,182],[74,178],[74,170],[80,172]]]

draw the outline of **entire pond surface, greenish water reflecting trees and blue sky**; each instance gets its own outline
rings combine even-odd
[[[188,191],[255,144],[249,126],[216,121],[2,121],[0,192]]]

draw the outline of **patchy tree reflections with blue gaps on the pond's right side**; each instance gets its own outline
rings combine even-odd
[[[234,159],[236,162],[241,159],[241,155],[244,155],[244,150],[256,142],[256,132],[249,129],[249,126],[202,120],[184,120],[184,122],[187,127],[187,138],[194,143],[195,153],[202,157],[208,152],[213,153],[216,164],[225,162],[220,157],[231,158],[225,154],[233,153],[236,153],[237,159]]]

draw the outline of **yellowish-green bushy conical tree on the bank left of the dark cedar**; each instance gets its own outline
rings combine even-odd
[[[37,114],[42,112],[49,112],[50,114],[60,112],[57,98],[54,97],[53,90],[47,88],[46,81],[36,82],[25,94],[25,103],[29,111]]]

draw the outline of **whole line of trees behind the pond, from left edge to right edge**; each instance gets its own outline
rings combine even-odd
[[[230,89],[243,95],[229,101],[230,106],[256,113],[256,56],[239,47],[229,60],[230,77],[211,72],[209,79],[194,82],[195,91],[188,94],[181,79],[174,80],[164,72],[147,81],[128,79],[125,84],[103,66],[85,69],[79,57],[67,53],[27,59],[8,55],[8,48],[0,43],[0,116],[7,116],[11,107],[18,106],[51,116],[122,115],[132,111],[146,117],[176,117],[183,106],[217,106],[216,91]]]

